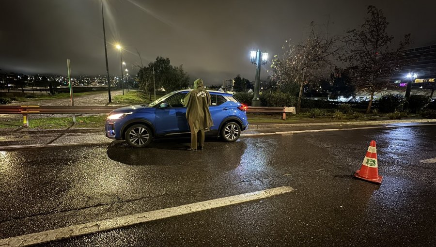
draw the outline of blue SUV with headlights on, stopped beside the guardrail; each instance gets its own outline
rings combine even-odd
[[[190,90],[168,93],[149,105],[137,105],[113,110],[106,118],[106,137],[124,139],[136,148],[146,147],[155,138],[189,136],[186,107],[182,100]],[[247,107],[230,93],[208,91],[212,97],[209,111],[214,125],[206,136],[218,136],[235,141],[247,129]]]

